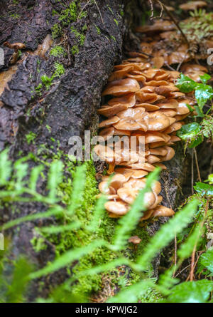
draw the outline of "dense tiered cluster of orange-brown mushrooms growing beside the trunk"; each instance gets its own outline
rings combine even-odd
[[[155,63],[159,63],[156,58],[159,56],[148,63],[142,53],[132,53],[131,58],[114,66],[103,92],[108,101],[98,110],[99,115],[105,117],[99,124],[99,135],[106,143],[96,145],[94,151],[109,164],[108,175],[104,175],[99,183],[100,192],[107,195],[105,209],[109,217],[126,214],[138,191],[146,186],[148,173],[156,166],[166,168],[163,162],[174,157],[172,146],[180,140],[176,132],[189,115],[189,108],[193,109],[195,105],[193,93],[181,93],[175,86],[180,72],[161,68],[161,65],[155,68]],[[185,63],[181,71],[199,81],[200,75],[207,70],[200,65]],[[131,159],[127,158],[125,147],[121,146],[116,152],[114,142],[107,146],[107,141],[114,136],[129,137],[129,145],[131,137],[136,137],[136,150],[131,151]],[[144,142],[143,159],[138,153],[140,137]],[[172,209],[160,204],[163,199],[160,191],[160,182],[155,181],[151,191],[145,194],[146,212],[141,221],[174,214]]]

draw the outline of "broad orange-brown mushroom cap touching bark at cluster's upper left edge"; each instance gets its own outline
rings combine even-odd
[[[137,80],[132,78],[125,78],[111,81],[102,95],[124,95],[134,93],[140,89]]]

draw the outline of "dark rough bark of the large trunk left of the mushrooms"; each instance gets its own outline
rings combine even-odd
[[[72,135],[82,135],[87,128],[96,130],[97,108],[107,78],[114,64],[121,62],[123,48],[128,50],[131,45],[132,51],[137,47],[138,39],[129,26],[135,24],[140,17],[143,8],[141,1],[126,1],[128,6],[124,10],[124,1],[100,0],[98,3],[101,15],[95,4],[89,4],[85,8],[87,16],[62,25],[58,16],[53,14],[53,9],[62,12],[65,2],[70,4],[72,1],[26,0],[19,1],[18,5],[14,5],[13,1],[1,2],[0,47],[5,51],[5,63],[0,66],[1,71],[11,71],[9,59],[13,53],[10,48],[4,47],[3,43],[9,41],[26,44],[21,61],[16,65],[17,70],[15,69],[13,77],[6,83],[6,88],[0,95],[0,148],[9,146],[12,157],[16,157],[19,150],[23,151],[23,155],[36,152],[36,148],[41,144],[46,147],[55,146],[51,137],[60,142],[60,150],[67,154],[68,140]],[[81,7],[85,4],[86,1],[80,1]],[[135,12],[138,19],[134,15]],[[17,15],[15,18],[14,14]],[[48,50],[45,53],[43,50],[35,51],[51,33],[53,25],[59,22],[62,33],[54,43],[62,43],[67,55],[60,58],[50,56],[50,43],[47,44]],[[81,46],[76,42],[75,33],[70,31],[70,27],[81,32],[84,25],[87,25],[87,30],[84,31],[85,41]],[[72,48],[76,45],[79,53],[73,55]],[[40,94],[36,93],[35,87],[41,83],[41,76],[53,75],[55,61],[65,65],[65,74],[55,78],[49,90],[43,87]],[[26,142],[29,132],[36,134],[35,142],[31,144]],[[175,207],[182,181],[187,175],[186,159],[182,155],[181,146],[178,146],[178,149],[162,177],[163,202],[168,207]],[[42,185],[40,190],[43,190]],[[28,214],[32,210],[42,211],[43,208],[40,204],[25,204],[23,207],[19,206],[19,215]],[[154,234],[162,222],[165,222],[165,219],[151,224],[148,232]],[[35,254],[30,243],[34,227],[33,223],[22,224],[20,230],[12,232],[13,254],[17,256],[22,252],[27,253],[35,264],[43,266],[54,259],[54,247],[48,244],[47,250]],[[160,256],[154,261],[156,276],[159,261]],[[64,278],[65,271],[60,271],[60,274],[51,276],[46,283],[60,283]],[[36,295],[34,287],[31,298]]]

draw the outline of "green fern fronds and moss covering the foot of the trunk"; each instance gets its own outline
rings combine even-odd
[[[50,241],[56,246],[55,260],[38,269],[24,257],[13,259],[11,264],[12,246],[9,246],[6,254],[1,251],[2,302],[26,301],[25,291],[33,280],[41,283],[45,281],[45,276],[63,268],[67,269],[67,279],[60,286],[51,289],[48,298],[38,297],[36,301],[89,301],[94,293],[100,291],[104,276],[108,276],[109,284],[113,285],[114,282],[119,289],[116,295],[114,289],[111,289],[107,298],[102,298],[108,302],[149,299],[160,302],[212,301],[213,249],[202,251],[200,255],[198,269],[204,279],[180,283],[175,277],[182,262],[204,245],[204,237],[212,234],[212,209],[209,208],[212,203],[212,192],[209,192],[213,190],[212,185],[205,184],[207,190],[204,190],[197,184],[196,194],[190,197],[188,204],[173,219],[163,224],[154,237],[146,241],[143,251],[133,252],[129,256],[128,239],[143,214],[141,210],[145,210],[143,195],[150,189],[153,180],[158,178],[158,169],[148,176],[146,188],[138,194],[131,210],[116,222],[109,219],[104,212],[104,196],[94,203],[96,189],[92,182],[95,180],[88,175],[89,170],[94,168],[92,162],[76,167],[75,172],[72,170],[72,182],[69,179],[67,186],[62,182],[65,165],[61,160],[51,162],[48,173],[43,164],[40,164],[33,167],[28,175],[28,159],[29,157],[23,157],[12,165],[8,152],[1,152],[1,206],[17,202],[39,202],[45,205],[45,211],[32,212],[23,217],[18,217],[15,212],[11,221],[2,224],[1,232],[6,234],[13,227],[21,230],[21,224],[34,222],[35,235],[31,239],[33,249],[39,252]],[[45,195],[36,190],[40,177],[46,179]],[[93,188],[93,197],[87,197],[88,188]],[[38,219],[49,219],[48,225],[43,222],[42,227],[38,226]],[[152,261],[175,236],[181,241],[178,259],[156,281],[151,269]],[[122,272],[132,276],[132,279],[128,281]],[[148,299],[150,293],[155,297]],[[98,301],[98,295],[93,298]]]

